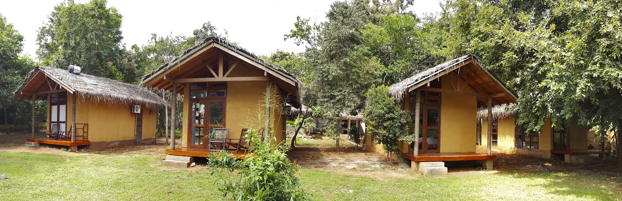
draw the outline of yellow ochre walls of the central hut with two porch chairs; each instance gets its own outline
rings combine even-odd
[[[263,76],[262,73],[258,73],[253,69],[249,69],[247,66],[241,63],[234,68],[228,77],[246,77],[246,76]],[[276,85],[272,83],[272,89],[277,89]],[[225,106],[225,127],[229,128],[229,138],[239,138],[242,129],[248,128],[248,118],[256,117],[255,112],[258,111],[260,102],[264,100],[264,92],[266,92],[266,81],[229,81],[227,82],[227,94],[226,94],[226,106]],[[188,112],[188,105],[190,102],[190,89],[184,87],[184,113]],[[277,96],[282,96],[281,92],[277,90]],[[263,110],[261,110],[263,111]],[[188,116],[184,115],[182,124],[182,147],[187,147],[188,136]],[[278,142],[284,140],[284,117],[281,115],[281,111],[271,109],[271,123],[274,125],[272,128],[276,140]],[[259,131],[259,128],[255,128]]]

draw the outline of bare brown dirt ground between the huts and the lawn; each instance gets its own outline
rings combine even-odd
[[[39,135],[41,135],[40,137],[44,137],[44,134]],[[86,149],[80,150],[77,153],[71,153],[58,148],[49,148],[45,146],[39,148],[24,146],[24,141],[26,141],[27,138],[30,138],[29,132],[16,132],[12,133],[12,135],[2,133],[0,134],[0,151],[64,155],[92,154],[104,157],[130,154],[156,156],[164,159],[164,150],[169,147],[169,145],[163,143],[121,145],[108,148]],[[341,148],[339,151],[335,150],[335,148],[326,147],[297,147],[294,150],[290,150],[287,154],[292,162],[299,164],[305,169],[321,169],[338,174],[371,176],[375,178],[400,177],[413,179],[421,175],[420,172],[411,171],[410,166],[406,163],[387,161],[386,155],[359,150],[355,147]],[[189,171],[200,171],[203,169],[205,159],[195,159],[195,161],[197,161],[197,166],[188,169]],[[478,164],[473,163],[467,166],[452,167],[448,169],[447,176],[470,177],[481,174],[495,174],[497,172],[580,172],[595,176],[613,177],[620,179],[620,183],[622,183],[622,173],[616,172],[617,161],[613,158],[606,161],[595,160],[594,163],[590,164],[567,164],[563,161],[552,159],[539,159],[516,154],[498,154],[497,159],[494,161],[493,170],[478,171],[476,168],[477,166]],[[161,166],[158,168],[164,170],[171,169]]]

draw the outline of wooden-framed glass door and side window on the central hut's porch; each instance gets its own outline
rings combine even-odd
[[[225,99],[190,99],[189,148],[209,148],[210,133],[225,127]]]

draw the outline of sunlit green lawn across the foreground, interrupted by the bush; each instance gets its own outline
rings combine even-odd
[[[155,156],[0,152],[0,200],[215,200],[205,169],[162,170]],[[470,177],[374,179],[302,169],[313,200],[621,200],[611,178],[496,173]],[[620,178],[618,182],[620,181]]]

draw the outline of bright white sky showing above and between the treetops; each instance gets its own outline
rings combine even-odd
[[[221,32],[228,31],[231,41],[259,55],[269,55],[277,49],[300,52],[293,40],[283,40],[283,35],[294,28],[297,16],[324,21],[325,13],[335,0],[296,1],[128,1],[108,0],[123,15],[123,43],[144,45],[157,35],[190,35],[203,22],[211,21]],[[443,0],[415,0],[410,9],[417,15],[440,12]],[[24,35],[24,54],[36,57],[37,31],[52,12],[56,1],[2,1],[0,14]],[[78,3],[88,0],[77,0]],[[36,59],[35,59],[36,60]]]

